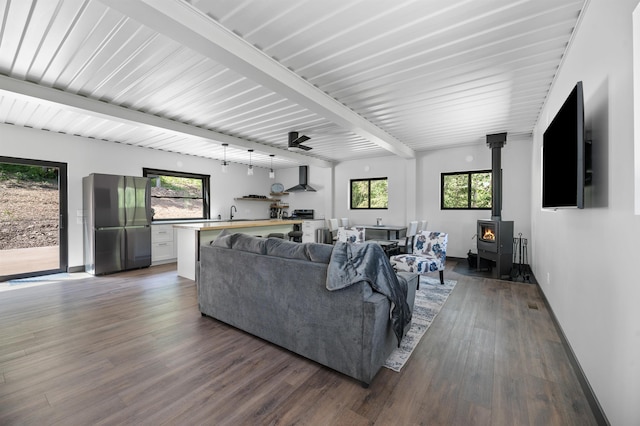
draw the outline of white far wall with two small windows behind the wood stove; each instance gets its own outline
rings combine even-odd
[[[426,219],[429,230],[449,234],[447,255],[466,257],[476,251],[476,221],[491,217],[490,210],[440,210],[440,174],[491,169],[491,150],[484,144],[429,151],[417,160],[395,156],[345,161],[335,167],[335,213],[355,224],[406,225]],[[504,220],[513,220],[517,236],[531,241],[531,140],[509,140],[502,149]],[[349,210],[349,181],[389,178],[388,210]]]

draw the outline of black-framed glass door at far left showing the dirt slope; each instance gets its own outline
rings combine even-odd
[[[0,281],[67,272],[67,165],[0,156]]]

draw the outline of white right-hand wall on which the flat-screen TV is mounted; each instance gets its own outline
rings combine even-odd
[[[535,129],[531,179],[534,274],[615,425],[640,424],[631,25],[637,4],[590,1]],[[594,185],[584,210],[542,211],[542,134],[579,80],[593,140]]]

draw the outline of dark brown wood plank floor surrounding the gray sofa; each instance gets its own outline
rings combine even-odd
[[[538,287],[453,266],[368,389],[202,317],[175,264],[0,292],[0,424],[596,424]]]

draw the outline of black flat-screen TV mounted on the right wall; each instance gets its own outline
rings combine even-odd
[[[580,81],[544,132],[542,208],[584,208],[586,162],[584,99]]]

